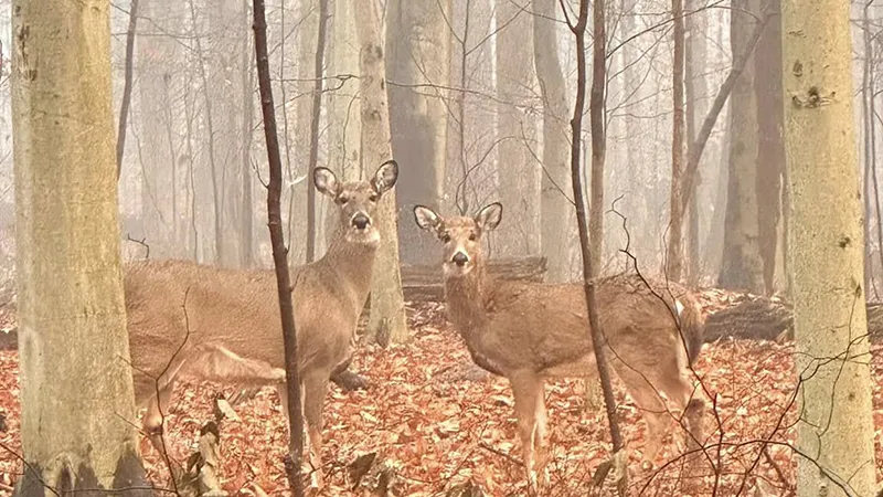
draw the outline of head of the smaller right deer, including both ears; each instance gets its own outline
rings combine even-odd
[[[481,261],[481,235],[500,224],[502,211],[503,207],[494,202],[474,218],[444,219],[427,207],[416,205],[414,220],[421,229],[435,233],[443,243],[445,276],[457,277],[469,274]]]

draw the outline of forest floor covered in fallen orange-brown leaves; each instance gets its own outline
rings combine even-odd
[[[705,304],[720,307],[726,298],[708,293]],[[357,353],[352,369],[369,379],[370,390],[330,390],[325,409],[326,495],[354,495],[345,467],[372,452],[397,468],[400,495],[445,495],[451,485],[470,478],[485,495],[525,495],[508,382],[494,377],[457,378],[454,372],[470,359],[440,306],[408,307],[408,318],[414,330],[411,343],[362,347]],[[10,319],[0,313],[0,320]],[[692,490],[680,487],[684,482],[678,458],[681,450],[671,438],[658,459],[662,469],[640,469],[646,424],[617,383],[617,409],[632,448],[630,494],[711,495],[716,480],[717,495],[789,495],[796,465],[789,444],[795,441],[791,426],[797,410],[791,353],[791,343],[725,339],[705,345],[695,370],[705,390],[716,398],[706,411],[705,435],[709,458],[720,470],[715,477],[709,464],[702,465],[704,475],[689,479]],[[881,346],[874,347],[873,373],[874,441],[877,462],[883,462]],[[235,390],[211,383],[179,383],[175,390],[178,400],[167,416],[166,436],[172,454],[183,462],[196,447],[200,427],[213,419],[214,395],[231,395]],[[553,461],[552,486],[545,495],[591,495],[587,482],[608,455],[606,417],[602,412],[585,412],[581,392],[576,380],[546,388]],[[10,494],[22,470],[19,411],[18,357],[14,351],[0,351],[0,414],[7,417],[6,431],[0,432],[0,496]],[[220,426],[224,489],[241,496],[288,495],[283,467],[285,416],[275,391],[262,390],[236,411],[238,421],[225,420]],[[675,440],[680,438],[679,433]],[[763,450],[762,441],[772,443]],[[164,463],[146,438],[140,442],[153,484],[168,487]],[[666,465],[666,461],[674,463]],[[877,464],[876,474],[883,479],[883,464]],[[607,490],[593,494],[607,495]]]

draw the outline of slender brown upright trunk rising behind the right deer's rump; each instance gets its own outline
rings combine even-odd
[[[666,277],[680,282],[683,273],[683,64],[684,64],[684,22],[683,0],[671,0],[671,17],[674,23],[673,64],[672,64],[672,105],[671,119],[671,223],[669,224],[669,244],[666,253]],[[693,183],[695,184],[695,183]]]

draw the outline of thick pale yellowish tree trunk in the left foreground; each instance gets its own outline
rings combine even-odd
[[[22,496],[146,488],[129,421],[109,9],[12,3]]]

